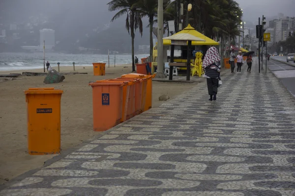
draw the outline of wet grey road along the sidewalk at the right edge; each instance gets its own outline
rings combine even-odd
[[[272,58],[285,59],[286,56],[275,56]],[[291,63],[289,61],[289,63]],[[292,62],[293,63],[293,62]],[[294,63],[295,65],[295,63]],[[264,63],[265,67],[265,63]],[[282,84],[288,89],[288,91],[295,97],[295,67],[281,63],[275,60],[270,60],[267,62],[267,67],[274,73]]]

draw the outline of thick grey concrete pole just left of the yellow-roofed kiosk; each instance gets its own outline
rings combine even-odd
[[[164,28],[164,19],[163,19],[163,0],[158,0],[158,58],[157,58],[157,78],[164,78],[164,60],[163,60],[163,28]],[[172,73],[171,73],[172,74]]]

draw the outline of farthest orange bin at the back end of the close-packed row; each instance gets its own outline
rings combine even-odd
[[[147,78],[147,90],[146,90],[146,101],[144,111],[149,110],[152,107],[152,78],[154,75],[144,75],[139,73],[129,73],[121,75],[122,78]]]

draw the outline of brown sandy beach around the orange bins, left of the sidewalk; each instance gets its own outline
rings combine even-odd
[[[56,67],[54,69],[57,70]],[[60,72],[72,72],[73,67],[60,67]],[[63,82],[44,84],[45,76],[20,76],[17,79],[0,79],[0,184],[32,169],[55,155],[31,156],[27,153],[27,108],[24,91],[29,88],[54,87],[63,90],[61,98],[61,149],[75,147],[93,139],[100,132],[92,131],[92,89],[90,81],[116,78],[131,73],[131,65],[106,67],[105,76],[93,76],[92,66],[76,66],[76,72],[88,74],[65,75]],[[38,70],[0,71],[0,74],[43,72]],[[197,84],[153,81],[153,107],[163,102],[162,94],[174,98]],[[62,152],[61,152],[62,153]]]

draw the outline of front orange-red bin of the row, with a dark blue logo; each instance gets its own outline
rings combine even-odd
[[[89,83],[92,87],[93,130],[105,131],[120,123],[126,83]]]

